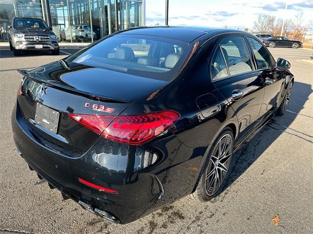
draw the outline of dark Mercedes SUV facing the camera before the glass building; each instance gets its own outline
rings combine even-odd
[[[14,17],[9,26],[8,40],[14,56],[22,51],[51,51],[53,55],[60,53],[58,37],[45,21],[37,18]]]

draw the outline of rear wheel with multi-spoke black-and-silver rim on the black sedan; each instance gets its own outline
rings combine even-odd
[[[190,194],[191,198],[206,202],[220,194],[227,172],[232,168],[233,147],[233,132],[230,128],[224,128],[206,156],[206,161],[199,176],[198,186]]]

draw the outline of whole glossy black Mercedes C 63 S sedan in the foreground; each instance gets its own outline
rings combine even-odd
[[[20,70],[14,140],[65,199],[128,223],[188,194],[218,195],[233,153],[285,113],[289,68],[242,31],[123,30]]]

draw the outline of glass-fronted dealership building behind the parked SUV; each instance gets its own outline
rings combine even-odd
[[[60,42],[94,42],[145,25],[145,0],[0,0],[0,41],[14,16],[44,19]]]

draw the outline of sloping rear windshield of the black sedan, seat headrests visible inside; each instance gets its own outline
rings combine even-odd
[[[157,80],[172,80],[191,51],[189,44],[146,35],[114,35],[67,61]]]

